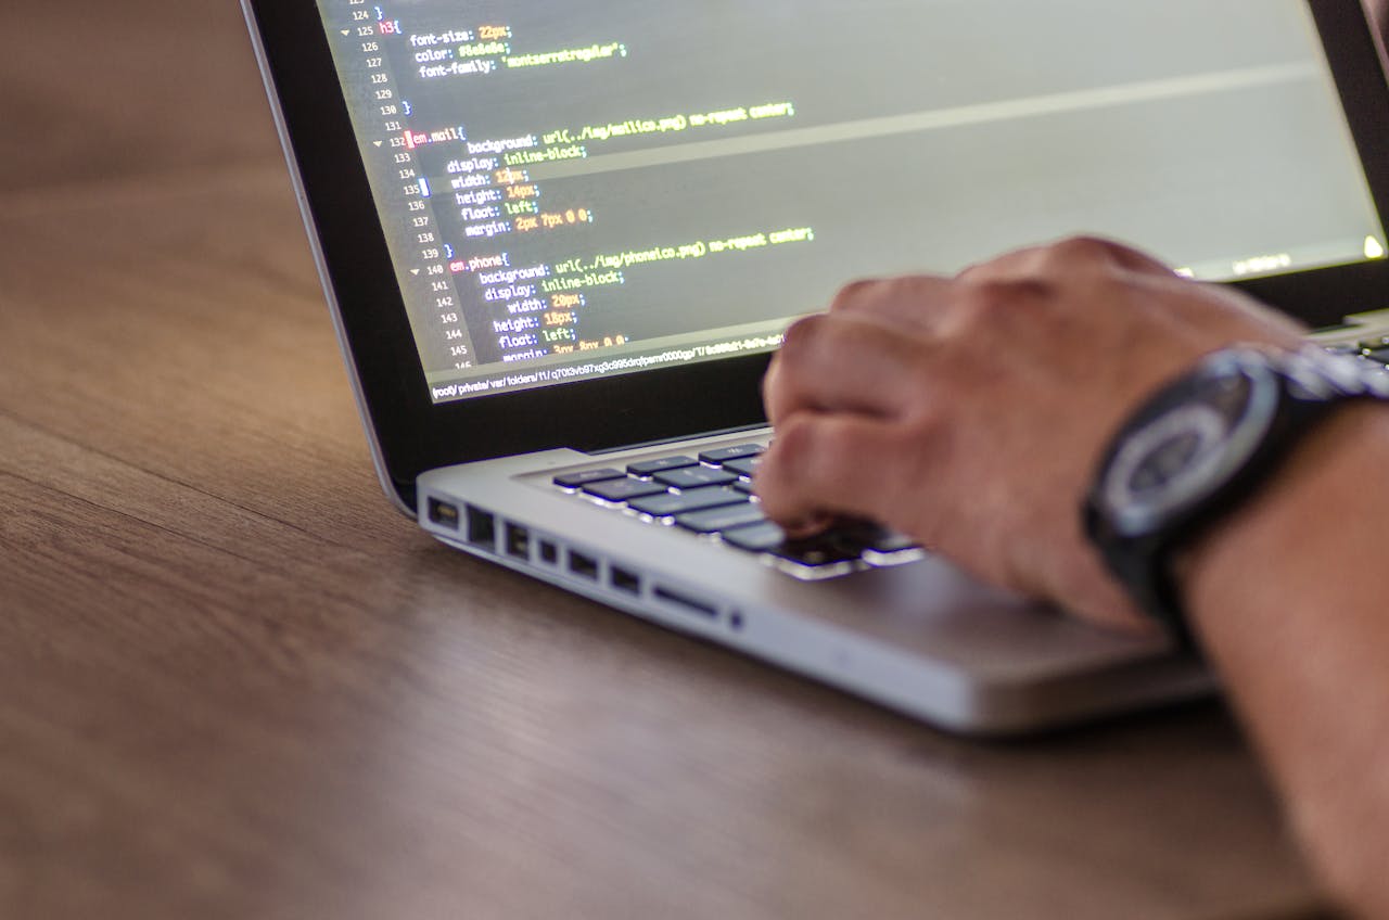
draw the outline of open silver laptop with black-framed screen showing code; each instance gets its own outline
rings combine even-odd
[[[388,498],[946,730],[1213,680],[868,523],[788,542],[750,475],[789,322],[858,277],[1086,232],[1389,357],[1389,93],[1357,0],[243,6]]]

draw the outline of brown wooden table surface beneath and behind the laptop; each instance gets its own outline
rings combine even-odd
[[[1215,703],[964,742],[435,545],[235,4],[7,21],[0,916],[1315,910]]]

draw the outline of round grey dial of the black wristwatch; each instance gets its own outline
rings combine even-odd
[[[1100,500],[1120,534],[1153,532],[1240,470],[1272,422],[1278,382],[1238,360],[1164,391],[1121,436]]]

